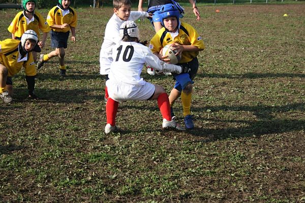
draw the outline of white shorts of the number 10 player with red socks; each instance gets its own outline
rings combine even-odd
[[[155,93],[155,85],[144,82],[144,85],[137,86],[109,79],[106,81],[106,86],[109,97],[113,100],[147,100]]]

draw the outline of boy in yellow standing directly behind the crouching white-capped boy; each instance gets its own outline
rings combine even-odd
[[[17,13],[10,26],[8,27],[9,32],[12,33],[12,39],[20,40],[22,34],[28,30],[34,30],[39,38],[39,29],[43,32],[42,40],[39,41],[34,47],[32,54],[34,61],[37,60],[37,52],[41,52],[41,48],[44,47],[48,32],[51,30],[44,17],[35,11],[36,0],[23,0],[22,8],[24,11]]]

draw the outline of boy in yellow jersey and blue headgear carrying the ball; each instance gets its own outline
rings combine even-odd
[[[160,59],[170,62],[170,59],[162,56],[160,51],[165,45],[173,44],[172,47],[177,51],[176,55],[181,54],[178,65],[191,69],[189,73],[172,73],[176,83],[170,92],[169,102],[172,107],[175,100],[181,95],[185,127],[193,129],[194,122],[191,115],[193,79],[199,67],[197,55],[205,46],[198,32],[191,25],[179,21],[179,11],[174,5],[164,5],[159,11],[159,16],[164,27],[151,39],[149,47]],[[173,112],[172,116],[174,116]]]

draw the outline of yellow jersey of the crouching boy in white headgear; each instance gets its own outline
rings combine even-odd
[[[8,76],[13,77],[24,67],[26,76],[36,76],[36,65],[32,52],[21,56],[19,52],[20,40],[6,39],[0,41],[0,63],[6,66]]]

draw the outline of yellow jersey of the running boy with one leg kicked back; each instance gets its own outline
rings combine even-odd
[[[49,26],[52,25],[62,25],[62,24],[69,24],[70,27],[76,27],[77,25],[77,14],[75,10],[71,7],[68,10],[62,10],[58,6],[53,7],[47,17],[47,22]],[[70,30],[70,27],[66,28],[51,28],[53,31],[56,32],[67,32]]]

